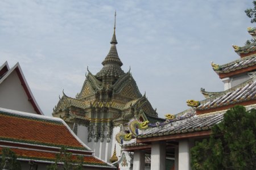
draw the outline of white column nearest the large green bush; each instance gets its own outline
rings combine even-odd
[[[189,151],[191,142],[188,139],[179,141],[179,170],[190,170]]]

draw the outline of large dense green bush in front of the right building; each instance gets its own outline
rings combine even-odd
[[[209,139],[191,149],[191,167],[201,169],[256,169],[256,109],[236,106],[213,126]]]

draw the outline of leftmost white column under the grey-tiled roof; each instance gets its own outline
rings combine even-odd
[[[133,170],[145,169],[145,152],[142,150],[134,151]]]

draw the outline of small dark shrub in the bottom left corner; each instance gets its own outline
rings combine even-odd
[[[10,150],[10,148],[2,148],[2,154],[1,154],[1,169],[3,169],[6,160],[9,163],[9,169],[10,170],[19,170],[21,169],[20,163],[17,160],[17,156],[15,152]]]

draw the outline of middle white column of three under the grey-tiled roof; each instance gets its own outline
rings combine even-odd
[[[152,142],[151,144],[151,170],[166,169],[166,142]]]

